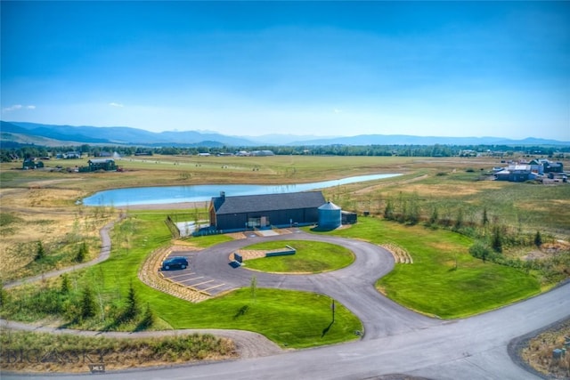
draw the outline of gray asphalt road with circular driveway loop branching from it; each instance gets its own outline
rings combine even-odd
[[[228,256],[255,239],[312,239],[353,250],[355,263],[317,275],[276,275],[232,269]],[[359,240],[298,232],[271,238],[234,240],[200,253],[194,271],[235,287],[247,287],[251,276],[258,287],[310,290],[330,295],[353,311],[364,324],[361,341],[273,356],[187,367],[145,369],[98,375],[121,379],[365,379],[407,374],[433,379],[534,379],[509,358],[507,345],[517,336],[570,315],[570,283],[496,311],[443,321],[429,319],[387,300],[373,287],[391,270],[386,251]],[[428,295],[427,295],[428,296]],[[3,379],[21,376],[2,375]],[[38,376],[41,377],[41,376]],[[37,377],[35,377],[37,378]],[[68,379],[69,376],[46,376]]]

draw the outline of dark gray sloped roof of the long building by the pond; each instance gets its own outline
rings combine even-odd
[[[321,191],[214,197],[216,214],[256,213],[269,210],[317,208],[325,203]]]

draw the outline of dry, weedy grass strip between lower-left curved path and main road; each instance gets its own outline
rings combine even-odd
[[[3,370],[87,372],[92,362],[106,370],[141,368],[197,360],[227,360],[235,344],[209,334],[163,337],[109,338],[28,331],[0,331]]]

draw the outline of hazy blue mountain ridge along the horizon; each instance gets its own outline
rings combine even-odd
[[[128,126],[46,125],[28,122],[0,121],[1,141],[38,145],[107,144],[149,147],[254,147],[267,145],[561,145],[557,141],[528,137],[512,140],[502,137],[438,137],[405,134],[361,134],[345,137],[315,137],[290,134],[265,136],[228,136],[198,131],[149,132]]]

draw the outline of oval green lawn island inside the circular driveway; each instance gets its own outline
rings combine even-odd
[[[354,254],[350,250],[320,241],[271,241],[241,249],[273,250],[285,246],[294,247],[297,250],[296,254],[248,260],[246,268],[277,273],[320,273],[335,271],[354,263]]]

